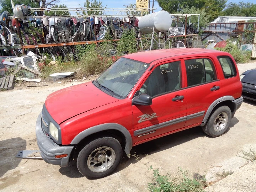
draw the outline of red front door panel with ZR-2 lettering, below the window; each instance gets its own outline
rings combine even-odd
[[[172,101],[177,95],[184,96],[184,99]],[[150,106],[133,105],[134,143],[184,127],[186,119],[181,121],[178,118],[186,118],[186,108],[185,89],[155,97]],[[170,122],[171,120],[174,121]],[[167,123],[163,124],[165,122]],[[147,134],[149,132],[153,133]]]

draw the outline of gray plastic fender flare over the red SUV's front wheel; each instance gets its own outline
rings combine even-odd
[[[82,139],[84,139],[85,137],[91,134],[98,133],[103,130],[110,130],[110,129],[118,130],[124,135],[124,137],[126,138],[126,146],[124,148],[124,151],[126,152],[126,155],[130,154],[130,150],[132,149],[132,144],[133,144],[132,137],[129,131],[125,127],[117,123],[105,123],[105,124],[101,124],[101,125],[97,125],[97,126],[85,129],[81,133],[76,135],[70,144],[71,145],[78,144],[81,142]]]

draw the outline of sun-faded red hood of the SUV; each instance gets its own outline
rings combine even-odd
[[[45,106],[58,123],[86,111],[118,101],[87,82],[53,92],[46,98]]]

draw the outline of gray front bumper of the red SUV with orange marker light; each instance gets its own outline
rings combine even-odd
[[[49,136],[44,134],[41,127],[41,113],[36,121],[36,138],[37,145],[40,149],[43,160],[53,165],[60,165],[61,167],[68,166],[70,154],[74,146],[59,146],[54,143]],[[55,155],[68,154],[64,158],[55,158]]]

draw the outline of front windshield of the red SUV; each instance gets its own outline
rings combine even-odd
[[[94,84],[98,84],[112,96],[126,98],[149,64],[120,58],[104,71]]]

